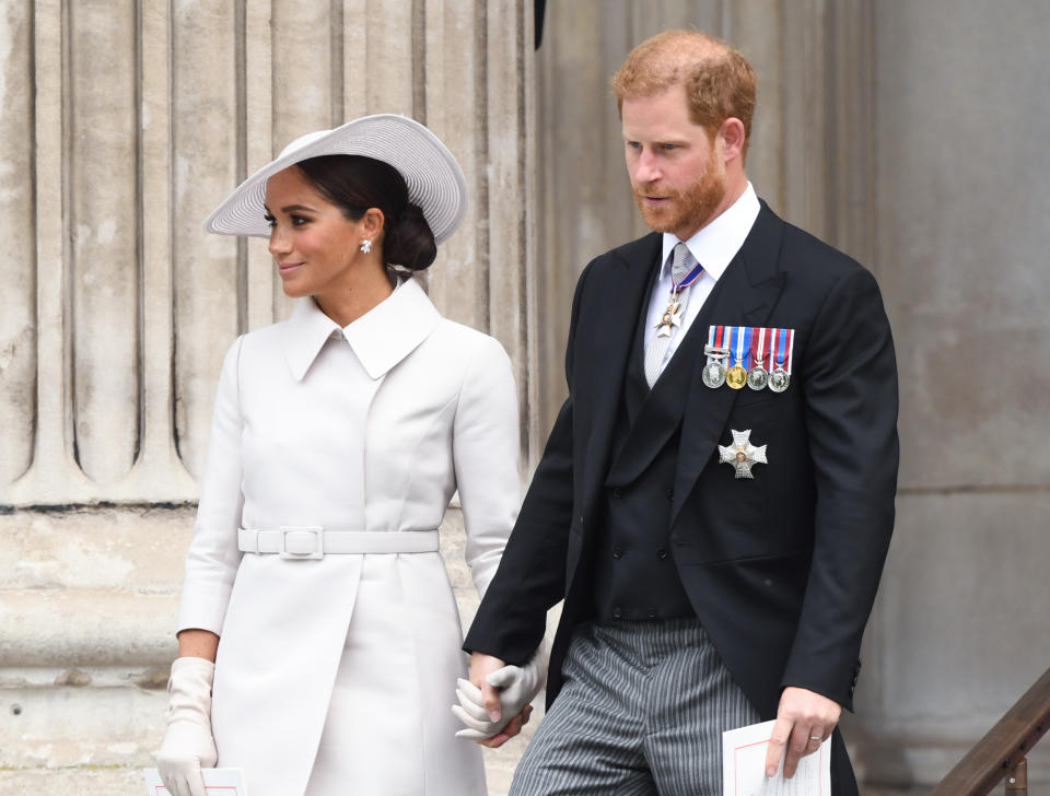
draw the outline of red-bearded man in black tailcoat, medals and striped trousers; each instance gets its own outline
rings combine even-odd
[[[467,635],[471,681],[499,712],[486,676],[564,599],[512,794],[721,794],[722,730],[772,718],[768,771],[831,737],[833,793],[856,794],[837,725],[898,465],[878,288],[756,197],[743,56],[668,31],[612,85],[654,232],[580,277],[569,398]]]

